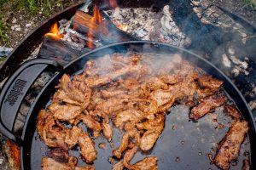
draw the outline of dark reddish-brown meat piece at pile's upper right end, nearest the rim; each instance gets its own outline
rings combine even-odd
[[[218,80],[217,78],[213,78],[207,75],[201,76],[198,79],[198,83],[202,88],[209,88],[212,91],[217,91],[218,88],[220,88],[223,84],[223,82]]]

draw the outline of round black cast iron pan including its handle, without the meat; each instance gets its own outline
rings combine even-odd
[[[55,85],[58,84],[61,76],[64,73],[71,76],[81,73],[89,59],[96,59],[104,54],[126,54],[127,52],[154,54],[155,57],[159,54],[168,54],[170,57],[172,54],[181,54],[183,59],[189,60],[208,74],[222,80],[224,82],[222,90],[236,104],[244,119],[249,123],[249,132],[241,145],[238,161],[232,162],[230,169],[241,169],[242,160],[247,156],[249,156],[252,168],[256,168],[256,162],[253,161],[256,154],[256,147],[253,145],[256,144],[255,122],[246,100],[233,82],[216,66],[188,50],[160,42],[135,41],[119,42],[97,48],[65,66],[50,59],[32,59],[15,71],[15,74],[5,83],[0,95],[0,130],[5,136],[20,145],[21,169],[40,169],[42,157],[45,156],[48,148],[39,139],[36,132],[36,119],[38,111],[49,105],[50,98],[55,93]],[[46,81],[38,82],[38,79],[42,79],[42,77]],[[35,88],[35,84],[39,84],[40,88]],[[28,96],[33,96],[33,98],[28,99]],[[25,104],[29,106],[26,109],[27,114],[24,114],[23,111]],[[153,150],[143,154],[137,152],[131,163],[141,160],[147,155],[154,155],[158,157],[159,169],[218,169],[215,165],[210,164],[207,154],[213,150],[214,156],[218,142],[223,139],[229,128],[230,118],[224,116],[221,108],[215,112],[218,114],[218,122],[226,125],[223,129],[217,130],[217,125],[212,122],[212,114],[208,114],[198,122],[190,122],[189,108],[185,105],[173,106],[168,110],[165,130]],[[24,118],[22,119],[22,117]],[[16,127],[17,124],[20,125],[17,122],[21,122],[19,128]],[[113,133],[113,143],[116,148],[119,146],[122,134],[117,129],[114,129]],[[97,146],[102,141],[107,143],[106,150],[101,150]],[[114,148],[111,148],[105,139],[96,139],[98,152],[97,160],[94,162],[96,169],[111,169],[113,165],[108,162],[108,156],[112,156]],[[79,157],[79,148],[70,150],[69,153]],[[84,161],[79,159],[79,165],[83,166]]]

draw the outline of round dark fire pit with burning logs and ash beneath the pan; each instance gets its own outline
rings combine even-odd
[[[67,65],[91,49],[113,42],[166,42],[201,54],[218,66],[236,83],[256,116],[255,33],[253,26],[236,15],[203,2],[81,3],[57,14],[21,42],[0,67],[1,81],[27,59],[54,59]],[[29,106],[50,77],[54,75],[42,75],[35,82],[20,108],[14,127],[16,133],[24,125]]]

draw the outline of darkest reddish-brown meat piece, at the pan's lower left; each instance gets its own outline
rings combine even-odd
[[[62,148],[51,149],[47,152],[46,155],[54,159],[55,161],[59,161],[59,162],[69,161],[68,150],[63,150]]]

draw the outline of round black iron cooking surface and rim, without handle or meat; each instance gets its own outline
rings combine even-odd
[[[32,108],[26,118],[21,138],[18,138],[15,134],[11,133],[12,129],[8,129],[2,122],[1,131],[10,139],[15,140],[21,145],[22,169],[39,169],[42,156],[45,156],[45,152],[48,150],[44,145],[44,142],[38,138],[38,133],[35,131],[36,118],[38,116],[38,111],[49,105],[50,97],[55,93],[54,87],[58,83],[61,75],[64,72],[70,75],[81,73],[84,69],[84,64],[89,59],[96,59],[105,54],[126,54],[127,52],[153,54],[154,58],[158,57],[157,59],[160,59],[160,55],[162,54],[170,57],[172,57],[172,54],[181,54],[184,59],[188,59],[191,63],[194,63],[208,74],[224,81],[223,91],[228,94],[230,100],[236,103],[236,106],[250,126],[247,139],[241,145],[238,161],[233,162],[236,166],[231,166],[230,169],[241,169],[242,160],[246,158],[244,153],[249,153],[252,167],[256,166],[255,162],[253,162],[256,153],[255,146],[253,146],[256,139],[253,116],[245,99],[243,99],[241,93],[230,79],[207,60],[202,59],[200,56],[192,54],[187,50],[159,42],[141,41],[119,42],[103,48],[98,48],[88,54],[82,55],[79,59],[74,60],[63,68],[63,71],[56,71],[55,77],[47,82],[40,94],[38,94],[37,99],[35,99],[32,104]],[[31,62],[33,63],[35,60]],[[41,60],[41,62],[43,61]],[[26,63],[26,65],[30,66],[31,64]],[[22,76],[22,71],[20,75]],[[23,76],[26,77],[26,75]],[[13,79],[15,80],[15,77]],[[30,79],[34,82],[36,77],[31,77]],[[14,80],[11,78],[3,88],[3,93],[0,98],[2,99],[2,104],[5,104],[3,101],[8,94],[7,90],[12,88],[14,84],[12,82],[15,82]],[[216,128],[218,123],[212,122],[212,114],[208,114],[198,122],[190,122],[188,116],[189,108],[185,105],[175,105],[168,111],[165,129],[160,135],[160,139],[158,139],[157,143],[154,145],[153,150],[148,151],[148,153],[137,152],[131,163],[139,161],[145,156],[157,156],[159,160],[159,169],[218,169],[215,165],[210,164],[207,154],[210,154],[212,150],[214,156],[218,142],[223,139],[231,120],[228,116],[224,116],[222,107],[218,108],[215,113],[218,115],[218,123],[224,124],[223,129]],[[8,114],[1,110],[2,121],[3,117],[6,116],[8,116]],[[85,127],[83,128],[86,130]],[[96,169],[111,169],[112,165],[108,162],[108,156],[112,156],[112,150],[119,146],[121,137],[122,134],[115,129],[113,136],[114,148],[111,148],[110,144],[108,144],[105,139],[96,139],[96,150],[98,151],[97,160],[94,162]],[[99,149],[98,147],[98,144],[102,141],[107,143],[106,150]],[[79,148],[70,150],[70,155],[79,157]],[[79,165],[83,166],[84,161],[79,160]]]

